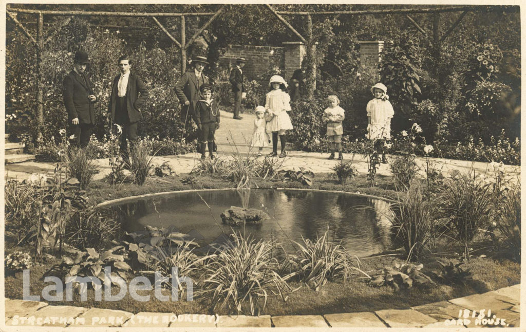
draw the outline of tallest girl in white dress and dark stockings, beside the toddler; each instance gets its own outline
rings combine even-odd
[[[287,83],[285,79],[279,75],[270,77],[268,87],[271,89],[267,93],[267,100],[265,103],[266,117],[267,117],[267,132],[272,133],[272,153],[270,157],[278,155],[278,135],[281,141],[280,158],[284,158],[287,154],[285,152],[285,134],[288,129],[294,129],[290,122],[290,117],[287,114],[290,108],[290,95],[287,93]]]

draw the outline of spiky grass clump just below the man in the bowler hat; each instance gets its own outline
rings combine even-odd
[[[93,177],[99,171],[97,164],[89,158],[90,151],[87,148],[71,147],[64,155],[68,177],[76,178],[80,183],[80,189],[87,189]]]

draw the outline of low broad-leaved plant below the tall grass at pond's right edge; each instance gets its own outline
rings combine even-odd
[[[409,289],[413,285],[434,284],[431,278],[420,271],[422,268],[423,264],[395,263],[393,267],[386,266],[372,273],[369,285],[374,287],[389,285],[399,290]]]

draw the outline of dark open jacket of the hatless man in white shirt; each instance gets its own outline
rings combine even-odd
[[[115,121],[115,107],[117,105],[117,98],[119,95],[120,74],[113,79],[112,95],[109,97],[108,112],[112,114],[112,120]],[[139,76],[130,72],[128,77],[128,85],[126,86],[126,106],[128,108],[128,117],[130,122],[137,122],[143,119],[140,113],[140,107],[148,99],[148,87],[144,84]]]

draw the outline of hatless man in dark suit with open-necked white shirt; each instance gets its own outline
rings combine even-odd
[[[148,99],[148,88],[139,76],[130,72],[131,64],[127,55],[119,58],[117,65],[120,74],[113,80],[112,95],[109,97],[108,112],[114,123],[122,127],[119,148],[126,162],[130,141],[132,147],[137,143],[137,125],[143,119],[140,107]]]

